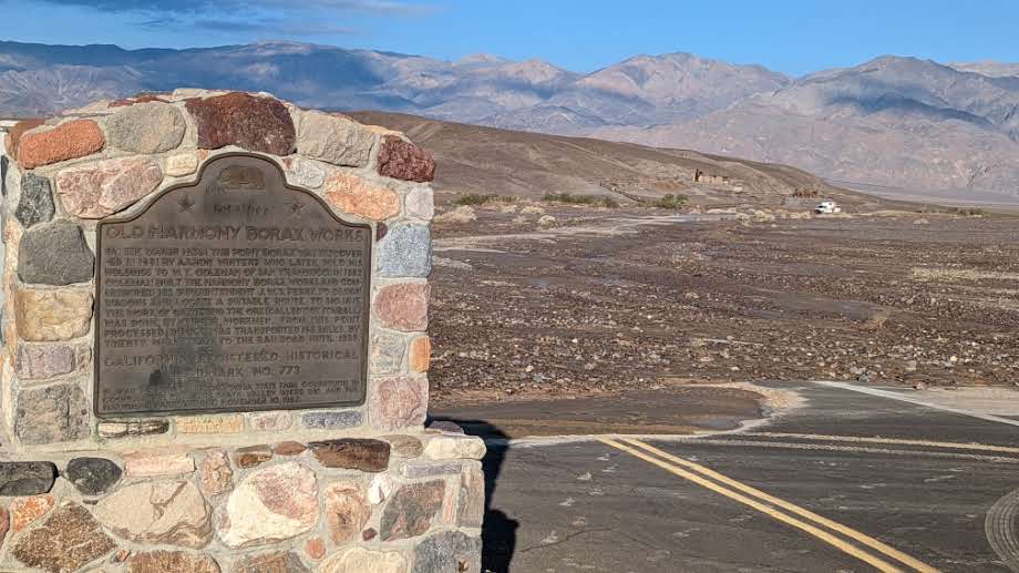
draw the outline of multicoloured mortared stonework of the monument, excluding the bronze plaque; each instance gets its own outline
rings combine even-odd
[[[99,102],[4,137],[0,571],[477,572],[484,443],[425,430],[431,156],[268,94]],[[374,231],[357,408],[99,420],[95,225],[224,153]]]

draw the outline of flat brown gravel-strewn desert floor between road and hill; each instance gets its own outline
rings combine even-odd
[[[434,227],[440,410],[759,380],[1019,380],[1012,216],[452,209]]]

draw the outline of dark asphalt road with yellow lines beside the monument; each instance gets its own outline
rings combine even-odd
[[[491,447],[487,570],[1019,571],[1015,419],[784,387],[744,432]]]

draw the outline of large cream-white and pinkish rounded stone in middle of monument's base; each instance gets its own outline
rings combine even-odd
[[[297,462],[248,474],[219,507],[219,539],[230,548],[282,541],[318,523],[315,472]]]

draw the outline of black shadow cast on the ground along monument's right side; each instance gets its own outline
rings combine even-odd
[[[485,440],[488,451],[482,460],[485,472],[485,521],[482,525],[482,559],[483,572],[505,573],[510,571],[513,552],[516,548],[516,530],[519,522],[506,515],[502,510],[492,507],[492,494],[498,481],[506,452],[510,450],[510,437],[483,420],[457,420],[449,417],[429,417],[429,424],[435,422],[453,422],[463,429],[467,436],[477,436]],[[439,426],[442,426],[441,423]]]

